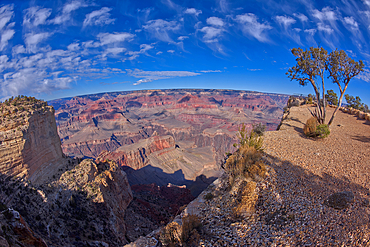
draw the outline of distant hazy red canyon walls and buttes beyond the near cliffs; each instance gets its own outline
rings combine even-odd
[[[130,184],[188,185],[220,174],[242,123],[275,130],[287,95],[233,90],[143,90],[49,102],[64,153],[115,160]],[[156,176],[150,176],[156,174]],[[192,181],[192,182],[189,182]],[[192,191],[194,192],[194,191]]]

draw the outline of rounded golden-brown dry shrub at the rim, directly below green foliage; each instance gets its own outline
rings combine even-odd
[[[225,170],[235,179],[239,176],[258,179],[264,177],[266,166],[262,162],[262,153],[254,147],[241,146],[225,163]]]

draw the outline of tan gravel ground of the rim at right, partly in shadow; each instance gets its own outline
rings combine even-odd
[[[270,168],[257,183],[255,214],[236,217],[235,191],[213,188],[215,198],[199,205],[201,246],[370,246],[370,125],[338,112],[330,136],[314,140],[302,131],[309,117],[293,107],[279,131],[265,134]],[[354,196],[349,207],[327,206],[345,191]]]

